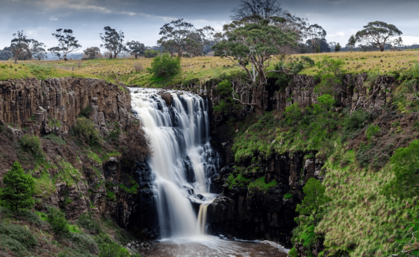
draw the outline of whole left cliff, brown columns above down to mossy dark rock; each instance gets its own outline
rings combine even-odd
[[[84,110],[103,140],[97,149],[78,142],[70,133]],[[124,131],[135,121],[130,110],[128,91],[103,80],[1,81],[0,125],[6,129],[0,130],[0,143],[8,149],[0,155],[0,181],[13,161],[20,161],[36,179],[36,198],[60,206],[68,219],[91,212],[114,219],[126,230],[155,237],[150,225],[154,208],[147,165],[124,159],[109,136],[110,131]],[[20,138],[24,134],[40,137],[41,163],[22,158]],[[64,143],[48,140],[46,135],[55,135]]]

